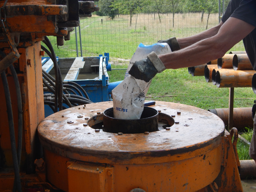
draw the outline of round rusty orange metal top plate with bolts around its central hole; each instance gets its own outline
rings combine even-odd
[[[155,161],[162,162],[170,160],[161,158],[164,156],[179,156],[181,160],[188,158],[181,153],[193,156],[198,151],[210,150],[219,145],[224,134],[224,123],[216,115],[196,107],[160,101],[153,108],[169,116],[175,115],[175,124],[170,130],[122,135],[102,130],[95,132],[90,125],[102,122],[103,111],[112,106],[112,102],[101,102],[84,108],[79,106],[66,109],[49,116],[38,126],[43,147],[79,160],[102,157],[99,161],[121,162],[133,158],[157,157]],[[101,114],[97,114],[99,112]],[[88,159],[88,156],[93,157]]]

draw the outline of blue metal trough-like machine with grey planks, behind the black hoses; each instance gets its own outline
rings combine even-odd
[[[108,71],[111,71],[111,64],[108,53],[99,57],[57,58],[57,60],[64,83],[73,81],[79,84],[94,103],[110,101],[112,89],[121,82],[109,82]],[[42,68],[55,77],[53,66],[50,58],[42,58]],[[53,114],[52,109],[45,105],[45,117],[51,114]]]

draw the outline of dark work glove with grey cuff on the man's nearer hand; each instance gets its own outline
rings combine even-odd
[[[161,62],[155,52],[147,55],[146,59],[136,61],[130,68],[129,74],[136,79],[149,82],[156,73],[165,70],[165,65]]]

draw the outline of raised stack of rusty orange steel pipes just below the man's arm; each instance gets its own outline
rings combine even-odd
[[[231,53],[207,64],[189,67],[189,73],[192,76],[204,75],[206,82],[212,82],[217,87],[251,87],[256,71],[247,54],[244,54],[245,52]],[[253,89],[256,92],[256,83]]]

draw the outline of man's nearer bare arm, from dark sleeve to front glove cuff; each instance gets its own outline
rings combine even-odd
[[[205,64],[221,58],[229,49],[255,29],[255,26],[234,17],[230,17],[225,23],[220,23],[218,26],[220,27],[215,35],[211,36],[213,34],[211,30],[195,35],[197,40],[203,36],[206,38],[179,51],[160,55],[159,59],[166,68],[174,69]],[[207,38],[207,35],[210,37]],[[187,44],[193,42],[191,37],[187,40],[189,42]],[[185,47],[186,43],[182,41],[180,46]]]

